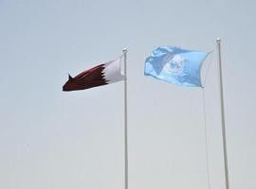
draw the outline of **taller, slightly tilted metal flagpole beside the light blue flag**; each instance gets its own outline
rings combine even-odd
[[[227,156],[227,142],[226,142],[226,129],[225,129],[225,112],[224,112],[224,98],[223,98],[223,82],[222,82],[222,65],[221,65],[221,40],[216,40],[218,46],[218,61],[219,61],[219,77],[220,77],[220,98],[221,98],[221,123],[222,123],[222,138],[223,138],[223,151],[224,151],[224,165],[225,165],[225,181],[226,189],[229,189],[229,169],[228,169],[228,156]]]

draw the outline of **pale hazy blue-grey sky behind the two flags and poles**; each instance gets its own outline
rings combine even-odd
[[[128,48],[130,189],[208,189],[203,92],[143,76],[158,45],[222,39],[230,189],[256,188],[253,0],[0,0],[0,188],[123,188],[123,82],[64,93]],[[205,61],[210,186],[224,188],[216,53]]]

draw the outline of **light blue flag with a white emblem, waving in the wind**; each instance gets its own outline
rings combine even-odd
[[[160,46],[145,60],[145,76],[152,76],[174,84],[202,87],[201,64],[209,53]]]

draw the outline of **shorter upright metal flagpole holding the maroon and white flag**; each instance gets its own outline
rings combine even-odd
[[[124,60],[124,189],[128,189],[128,140],[127,140],[127,49],[122,49]]]

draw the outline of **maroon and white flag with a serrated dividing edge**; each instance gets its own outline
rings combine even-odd
[[[123,80],[120,73],[120,59],[102,63],[89,70],[86,70],[76,77],[68,75],[64,83],[63,91],[77,91],[107,85],[109,83]]]

